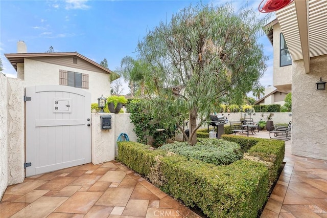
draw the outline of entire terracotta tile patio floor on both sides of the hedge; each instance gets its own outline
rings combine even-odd
[[[269,138],[265,131],[253,137]],[[327,161],[291,155],[261,217],[327,217]],[[6,217],[198,217],[166,193],[111,161],[26,178],[0,203]]]

